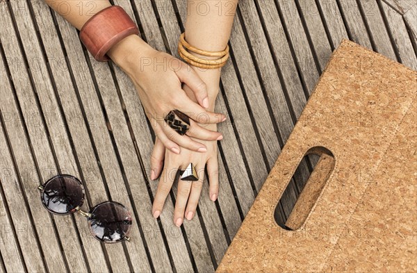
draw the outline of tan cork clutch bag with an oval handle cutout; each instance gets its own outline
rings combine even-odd
[[[417,72],[343,40],[217,272],[417,271]],[[275,207],[306,154],[286,226]]]

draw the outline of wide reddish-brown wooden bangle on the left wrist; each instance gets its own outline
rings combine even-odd
[[[106,53],[124,38],[139,34],[138,26],[120,6],[104,8],[88,19],[80,31],[80,39],[92,56],[101,62]]]

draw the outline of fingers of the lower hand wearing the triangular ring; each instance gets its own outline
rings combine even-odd
[[[216,124],[208,124],[208,130],[216,130]],[[201,142],[201,140],[200,140]],[[198,181],[182,181],[179,179],[177,201],[174,209],[174,224],[181,226],[183,218],[192,220],[197,209],[199,197],[202,192],[204,181],[204,167],[207,164],[208,180],[210,181],[209,197],[215,201],[218,197],[219,179],[218,179],[218,148],[217,141],[203,142],[207,151],[205,153],[196,153],[188,149],[181,149],[180,154],[174,154],[169,149],[165,149],[161,140],[156,138],[154,151],[151,157],[151,179],[154,180],[161,174],[158,183],[158,190],[154,199],[152,215],[159,217],[163,210],[163,205],[167,195],[170,193],[174,183],[177,171],[184,170],[190,163],[195,165]],[[165,166],[163,162],[165,159]]]

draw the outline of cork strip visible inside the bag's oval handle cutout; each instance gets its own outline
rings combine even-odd
[[[300,196],[295,202],[288,220],[286,220],[285,226],[293,231],[300,229],[306,221],[335,165],[332,152],[325,147],[312,147],[306,152],[304,157],[309,154],[317,154],[320,156],[320,159],[300,192]]]

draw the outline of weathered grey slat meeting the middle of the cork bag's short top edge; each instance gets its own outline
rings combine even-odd
[[[397,57],[395,56],[395,51],[386,31],[377,0],[361,0],[358,3],[362,9],[363,19],[368,23],[370,36],[376,47],[375,51],[396,61]]]

